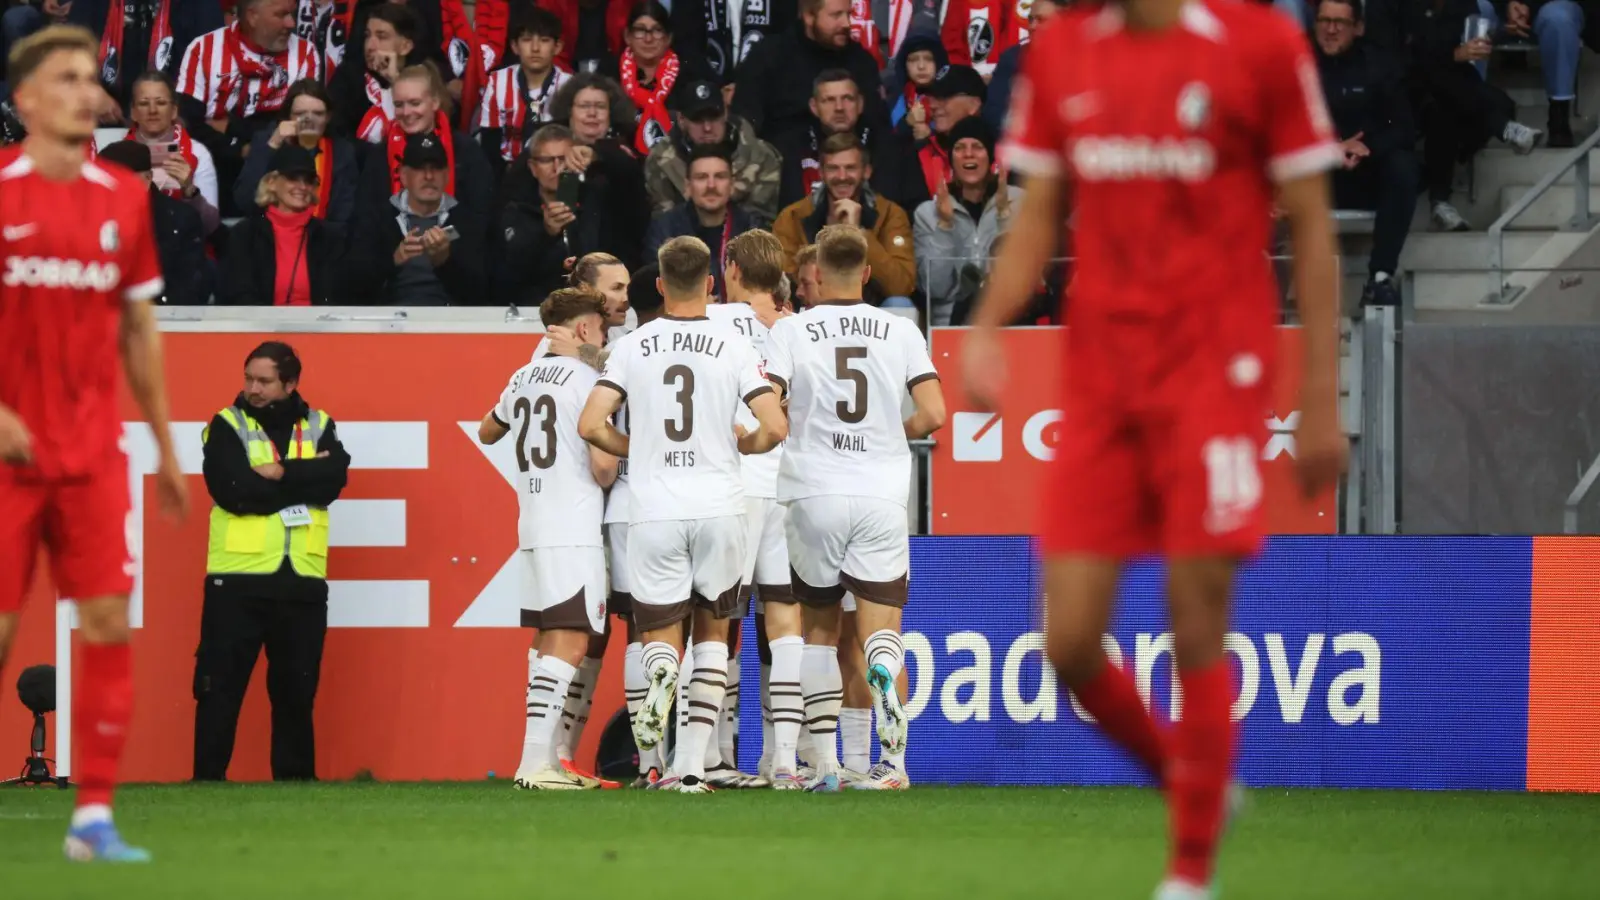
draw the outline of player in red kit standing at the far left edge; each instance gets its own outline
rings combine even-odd
[[[51,26],[11,50],[27,138],[0,151],[0,665],[43,548],[83,637],[72,695],[72,860],[144,862],[110,818],[133,711],[128,593],[133,530],[115,360],[155,434],[163,512],[186,506],[168,432],[150,299],[162,271],[149,191],[86,162],[101,99],[99,43]]]

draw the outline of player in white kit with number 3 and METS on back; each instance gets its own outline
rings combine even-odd
[[[728,679],[728,618],[744,570],[739,453],[765,453],[789,426],[762,360],[731,325],[706,317],[710,250],[675,237],[656,253],[666,312],[622,338],[579,421],[584,440],[629,460],[627,570],[650,679],[634,716],[640,746],[661,743],[693,615],[694,668],[675,790],[706,793],[706,743]],[[611,424],[622,402],[629,434]],[[734,423],[747,405],[757,428]]]

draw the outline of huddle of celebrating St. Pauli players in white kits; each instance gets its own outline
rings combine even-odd
[[[870,275],[861,231],[822,229],[816,258],[830,299],[797,315],[782,298],[784,253],[770,232],[730,242],[726,303],[710,299],[706,243],[675,239],[658,255],[659,295],[651,285],[629,291],[637,330],[603,351],[608,298],[586,285],[626,282],[626,272],[608,272],[614,263],[581,259],[581,287],[541,306],[550,338],[478,428],[488,444],[517,436],[523,623],[539,629],[518,788],[600,786],[571,764],[571,746],[608,604],[629,633],[637,785],[910,785],[896,685],[910,575],[907,439],[944,424],[944,396],[917,325],[861,301]],[[902,416],[907,392],[914,412]],[[730,642],[752,588],[766,733],[760,770],[747,775],[731,751],[739,679]],[[882,759],[870,770],[864,708],[846,729],[853,765],[838,759],[842,658],[859,676],[851,693],[869,692],[877,713]],[[678,732],[664,765],[674,706]]]

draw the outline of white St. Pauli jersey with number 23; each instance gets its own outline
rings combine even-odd
[[[552,356],[510,376],[494,420],[517,452],[517,541],[522,549],[600,546],[605,492],[589,469],[578,416],[598,375],[587,364]]]

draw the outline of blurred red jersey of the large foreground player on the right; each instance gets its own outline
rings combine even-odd
[[[1139,32],[1107,5],[1062,11],[1032,42],[1000,155],[1070,183],[1067,322],[1155,319],[1192,336],[1184,323],[1275,323],[1274,184],[1342,160],[1296,24],[1190,0],[1178,26]]]

